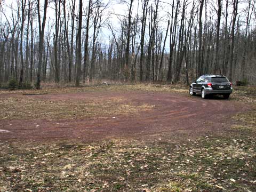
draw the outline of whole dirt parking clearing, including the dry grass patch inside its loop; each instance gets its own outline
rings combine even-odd
[[[47,94],[46,94],[47,93]],[[250,105],[187,93],[103,89],[0,94],[0,140],[189,137],[223,131]]]

